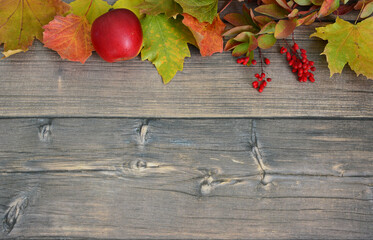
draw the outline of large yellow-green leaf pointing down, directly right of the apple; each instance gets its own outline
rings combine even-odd
[[[192,33],[180,18],[164,14],[147,15],[141,21],[144,48],[141,59],[151,61],[166,84],[183,70],[184,58],[190,57],[188,43],[195,44]]]

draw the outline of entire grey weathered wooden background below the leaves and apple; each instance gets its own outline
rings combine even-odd
[[[277,44],[262,94],[193,47],[166,86],[139,57],[0,61],[0,238],[373,238],[373,81],[329,78],[323,24],[295,34],[316,83]]]

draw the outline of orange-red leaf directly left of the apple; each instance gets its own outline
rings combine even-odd
[[[56,51],[63,59],[84,63],[94,50],[91,26],[84,16],[56,16],[44,29],[44,46]]]

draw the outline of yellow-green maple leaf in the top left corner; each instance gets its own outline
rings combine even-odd
[[[5,57],[27,51],[35,38],[42,40],[43,25],[70,6],[60,0],[0,0],[0,45]]]

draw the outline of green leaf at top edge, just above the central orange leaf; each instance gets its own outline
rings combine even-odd
[[[175,0],[181,5],[184,13],[197,18],[200,22],[214,21],[218,11],[218,0]]]

